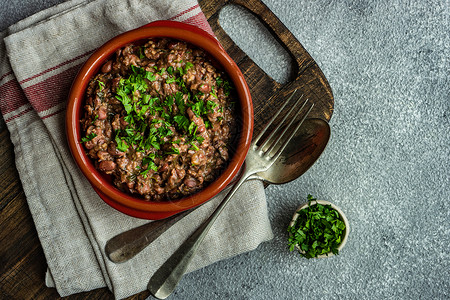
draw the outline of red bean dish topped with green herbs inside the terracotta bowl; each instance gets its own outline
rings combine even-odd
[[[119,189],[177,199],[227,165],[235,98],[203,50],[165,38],[130,44],[90,81],[81,142]]]

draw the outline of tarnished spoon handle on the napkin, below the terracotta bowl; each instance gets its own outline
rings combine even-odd
[[[195,209],[197,208],[189,209],[169,218],[153,221],[116,235],[105,245],[106,256],[114,263],[128,261],[172,227],[173,224]]]

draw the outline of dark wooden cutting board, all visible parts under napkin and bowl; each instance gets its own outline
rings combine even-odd
[[[250,87],[255,112],[255,132],[276,111],[283,99],[299,89],[315,103],[312,117],[329,120],[333,95],[322,71],[292,33],[259,0],[202,0],[200,6],[213,31],[241,68]],[[239,4],[254,13],[295,61],[295,79],[286,84],[272,80],[259,68],[219,25],[220,9]],[[55,289],[44,283],[47,268],[32,216],[26,203],[14,163],[14,149],[5,127],[0,130],[0,299],[58,299]],[[144,291],[128,299],[145,299]],[[113,299],[106,289],[79,293],[64,299]]]

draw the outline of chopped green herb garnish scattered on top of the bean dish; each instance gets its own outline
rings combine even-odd
[[[138,51],[139,57],[145,58],[145,49],[140,48]],[[191,108],[197,117],[203,119],[205,127],[211,128],[212,124],[206,115],[223,108],[214,101],[206,100],[207,97],[203,93],[197,91],[194,94],[186,87],[183,76],[193,68],[193,64],[182,61],[177,63],[181,66],[169,66],[161,69],[153,66],[151,67],[152,71],[147,71],[149,68],[144,69],[131,65],[129,74],[122,75],[123,77],[119,80],[113,94],[122,103],[125,110],[121,116],[123,120],[121,119],[120,122],[127,123],[126,128],[122,127],[123,129],[116,132],[114,137],[118,150],[125,152],[132,148],[133,151],[148,155],[152,149],[167,149],[167,146],[164,147],[164,145],[176,144],[171,141],[174,128],[184,132],[186,142],[193,145],[192,149],[198,148],[197,142],[203,142],[204,137],[197,136],[198,126],[188,117],[187,109]],[[177,91],[173,94],[165,94],[165,96],[150,95],[151,82],[156,80],[176,85]],[[217,87],[221,86],[224,89],[226,84],[229,84],[220,77],[216,78],[216,83]],[[103,86],[104,84],[99,81],[99,87]],[[216,85],[212,86],[211,95],[215,98],[217,98],[217,87]],[[178,148],[173,148],[171,153],[178,154],[177,151],[179,151]],[[142,167],[145,168],[152,163],[153,160],[143,161]],[[149,168],[152,169],[148,167],[147,171]]]

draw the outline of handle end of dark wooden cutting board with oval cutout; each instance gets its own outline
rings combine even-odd
[[[298,89],[305,99],[308,98],[314,103],[310,117],[330,120],[333,114],[334,98],[327,79],[305,48],[264,3],[259,0],[200,0],[199,4],[215,35],[238,64],[249,85],[253,99],[256,133],[295,89]],[[219,24],[219,14],[228,4],[247,8],[286,49],[296,64],[293,68],[295,77],[292,81],[280,84],[273,80],[226,34]]]

